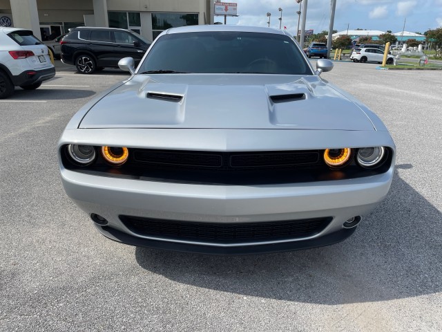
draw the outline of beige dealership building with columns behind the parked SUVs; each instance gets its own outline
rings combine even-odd
[[[50,40],[76,26],[131,29],[147,39],[178,26],[213,24],[213,0],[0,0],[0,26]]]

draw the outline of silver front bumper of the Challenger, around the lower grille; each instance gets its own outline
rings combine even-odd
[[[124,178],[107,178],[61,168],[68,196],[86,213],[103,216],[97,226],[106,237],[135,246],[218,254],[296,250],[336,243],[354,230],[343,223],[367,214],[385,197],[393,167],[385,174],[345,181],[283,185],[189,185]],[[327,227],[311,237],[280,241],[217,243],[144,236],[131,232],[120,216],[199,221],[253,223],[332,217]]]

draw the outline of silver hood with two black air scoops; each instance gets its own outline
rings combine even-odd
[[[374,130],[316,75],[135,75],[98,100],[79,128]]]

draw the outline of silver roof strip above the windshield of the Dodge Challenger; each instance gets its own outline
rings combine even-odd
[[[230,26],[224,24],[202,25],[202,26],[181,26],[179,28],[170,28],[164,33],[198,33],[211,31],[226,31],[226,32],[248,32],[248,33],[273,33],[275,35],[289,35],[284,30],[267,28],[261,26]]]

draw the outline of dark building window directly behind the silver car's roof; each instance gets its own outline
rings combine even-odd
[[[185,14],[177,12],[153,12],[152,35],[153,39],[169,28],[178,26],[198,26],[198,14]]]

